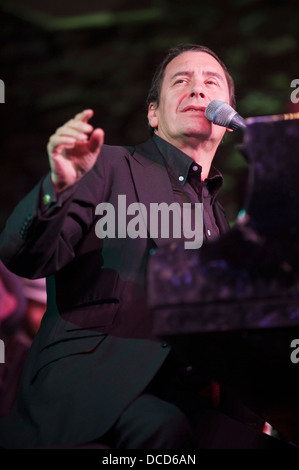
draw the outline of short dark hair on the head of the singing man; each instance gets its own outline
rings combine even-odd
[[[165,69],[169,62],[171,62],[175,57],[179,56],[183,52],[189,52],[189,51],[194,51],[194,52],[205,52],[206,54],[210,54],[214,59],[217,60],[217,62],[221,65],[223,68],[227,84],[228,84],[228,89],[229,89],[229,99],[230,99],[230,105],[236,109],[236,99],[235,99],[235,84],[234,80],[229,74],[226,65],[222,60],[219,59],[217,54],[213,52],[211,49],[209,49],[206,46],[201,46],[198,44],[182,44],[176,47],[172,47],[169,49],[166,57],[164,60],[160,63],[160,65],[157,67],[156,72],[153,76],[152,83],[147,95],[146,99],[146,109],[148,109],[150,103],[156,103],[157,106],[159,106],[160,103],[160,93],[161,93],[161,87],[162,87],[162,82],[164,79],[164,74],[165,74]],[[154,129],[150,126],[150,129],[152,132]]]

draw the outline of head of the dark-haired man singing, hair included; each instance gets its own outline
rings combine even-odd
[[[202,139],[215,135],[217,140],[219,134],[221,140],[225,130],[213,129],[204,116],[213,99],[236,107],[233,79],[218,56],[200,45],[170,49],[148,93],[149,125],[170,142],[183,135]]]

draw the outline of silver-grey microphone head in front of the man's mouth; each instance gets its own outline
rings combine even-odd
[[[224,101],[211,101],[206,107],[205,116],[209,121],[212,121],[218,126],[228,127],[234,131],[243,132],[246,129],[245,119]]]

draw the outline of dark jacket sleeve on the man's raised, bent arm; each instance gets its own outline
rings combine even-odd
[[[7,268],[20,276],[39,278],[70,262],[93,223],[104,181],[100,162],[50,203],[50,175],[40,181],[16,206],[0,235],[0,259]]]

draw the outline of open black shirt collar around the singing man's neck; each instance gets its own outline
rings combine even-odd
[[[184,186],[188,180],[190,168],[193,165],[199,167],[200,165],[194,162],[193,158],[189,157],[186,153],[162,139],[158,135],[153,135],[153,140],[157,145],[159,151],[162,153],[166,163],[172,169],[177,180]],[[210,196],[214,199],[223,185],[223,176],[217,168],[211,166],[209,177],[205,179]]]

